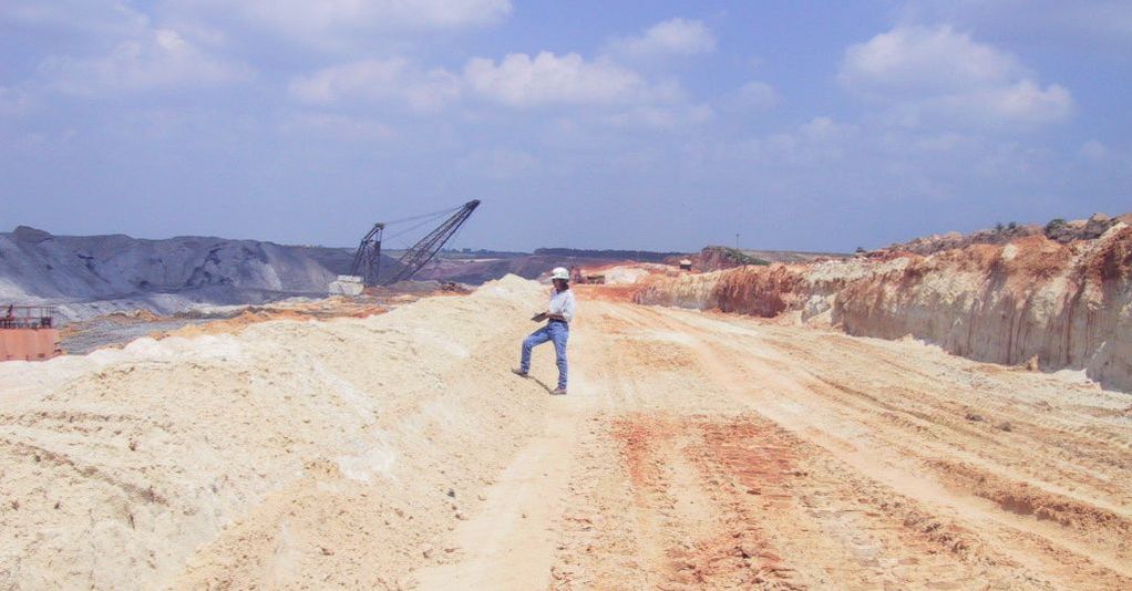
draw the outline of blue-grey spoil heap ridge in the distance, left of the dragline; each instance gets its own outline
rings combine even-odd
[[[54,236],[20,226],[0,233],[0,302],[102,302],[106,305],[86,307],[169,312],[192,303],[324,295],[334,276],[349,270],[351,258],[348,249],[205,236]],[[82,307],[63,314],[87,315]]]

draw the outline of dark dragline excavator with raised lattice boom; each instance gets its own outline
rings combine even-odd
[[[460,206],[456,209],[446,209],[444,211],[436,211],[432,214],[424,214],[423,216],[415,216],[406,219],[398,219],[396,221],[379,221],[374,224],[374,227],[361,238],[361,244],[358,245],[358,252],[354,253],[353,264],[350,267],[350,275],[361,277],[362,281],[367,286],[375,285],[392,285],[397,281],[404,281],[412,278],[417,271],[420,271],[440,249],[444,247],[445,243],[452,240],[452,236],[460,231],[460,227],[468,221],[469,216],[475,208],[480,206],[480,200],[474,199]],[[424,235],[423,238],[417,241],[409,250],[397,259],[397,263],[393,269],[387,270],[385,275],[381,273],[381,240],[383,234],[385,234],[386,226],[392,226],[394,224],[400,224],[403,221],[421,220],[417,225],[394,235],[389,238],[404,235],[413,229],[417,229],[441,216],[448,215],[448,217],[440,223],[432,232]]]

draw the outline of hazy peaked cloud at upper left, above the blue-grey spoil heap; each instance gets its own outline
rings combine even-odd
[[[248,70],[214,58],[177,31],[147,29],[91,58],[49,58],[40,66],[46,87],[79,96],[206,87],[246,78]]]

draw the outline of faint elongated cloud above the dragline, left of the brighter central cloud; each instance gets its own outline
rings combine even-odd
[[[460,97],[460,79],[443,70],[414,67],[404,58],[363,60],[295,78],[291,96],[303,103],[398,101],[413,111],[434,112]]]

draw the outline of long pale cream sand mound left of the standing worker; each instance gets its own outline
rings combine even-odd
[[[541,296],[508,276],[365,320],[3,364],[0,589],[385,588],[455,559],[428,545],[549,401],[507,372]]]

